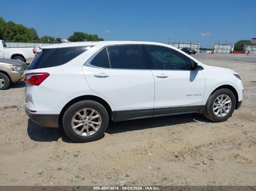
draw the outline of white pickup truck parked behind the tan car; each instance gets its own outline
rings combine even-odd
[[[0,58],[8,58],[26,62],[27,59],[34,59],[35,47],[14,47],[7,48],[5,41],[0,40]]]

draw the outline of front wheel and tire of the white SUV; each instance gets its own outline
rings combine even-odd
[[[223,122],[232,116],[236,105],[234,93],[226,88],[214,91],[208,98],[204,116],[214,122]]]

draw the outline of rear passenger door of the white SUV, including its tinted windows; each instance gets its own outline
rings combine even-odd
[[[117,121],[153,114],[155,82],[143,55],[144,46],[108,46],[83,66],[88,85],[113,104]]]

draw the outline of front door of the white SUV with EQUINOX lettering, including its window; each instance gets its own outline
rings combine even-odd
[[[197,112],[204,96],[201,70],[192,70],[191,60],[163,46],[145,46],[155,79],[154,115]]]

